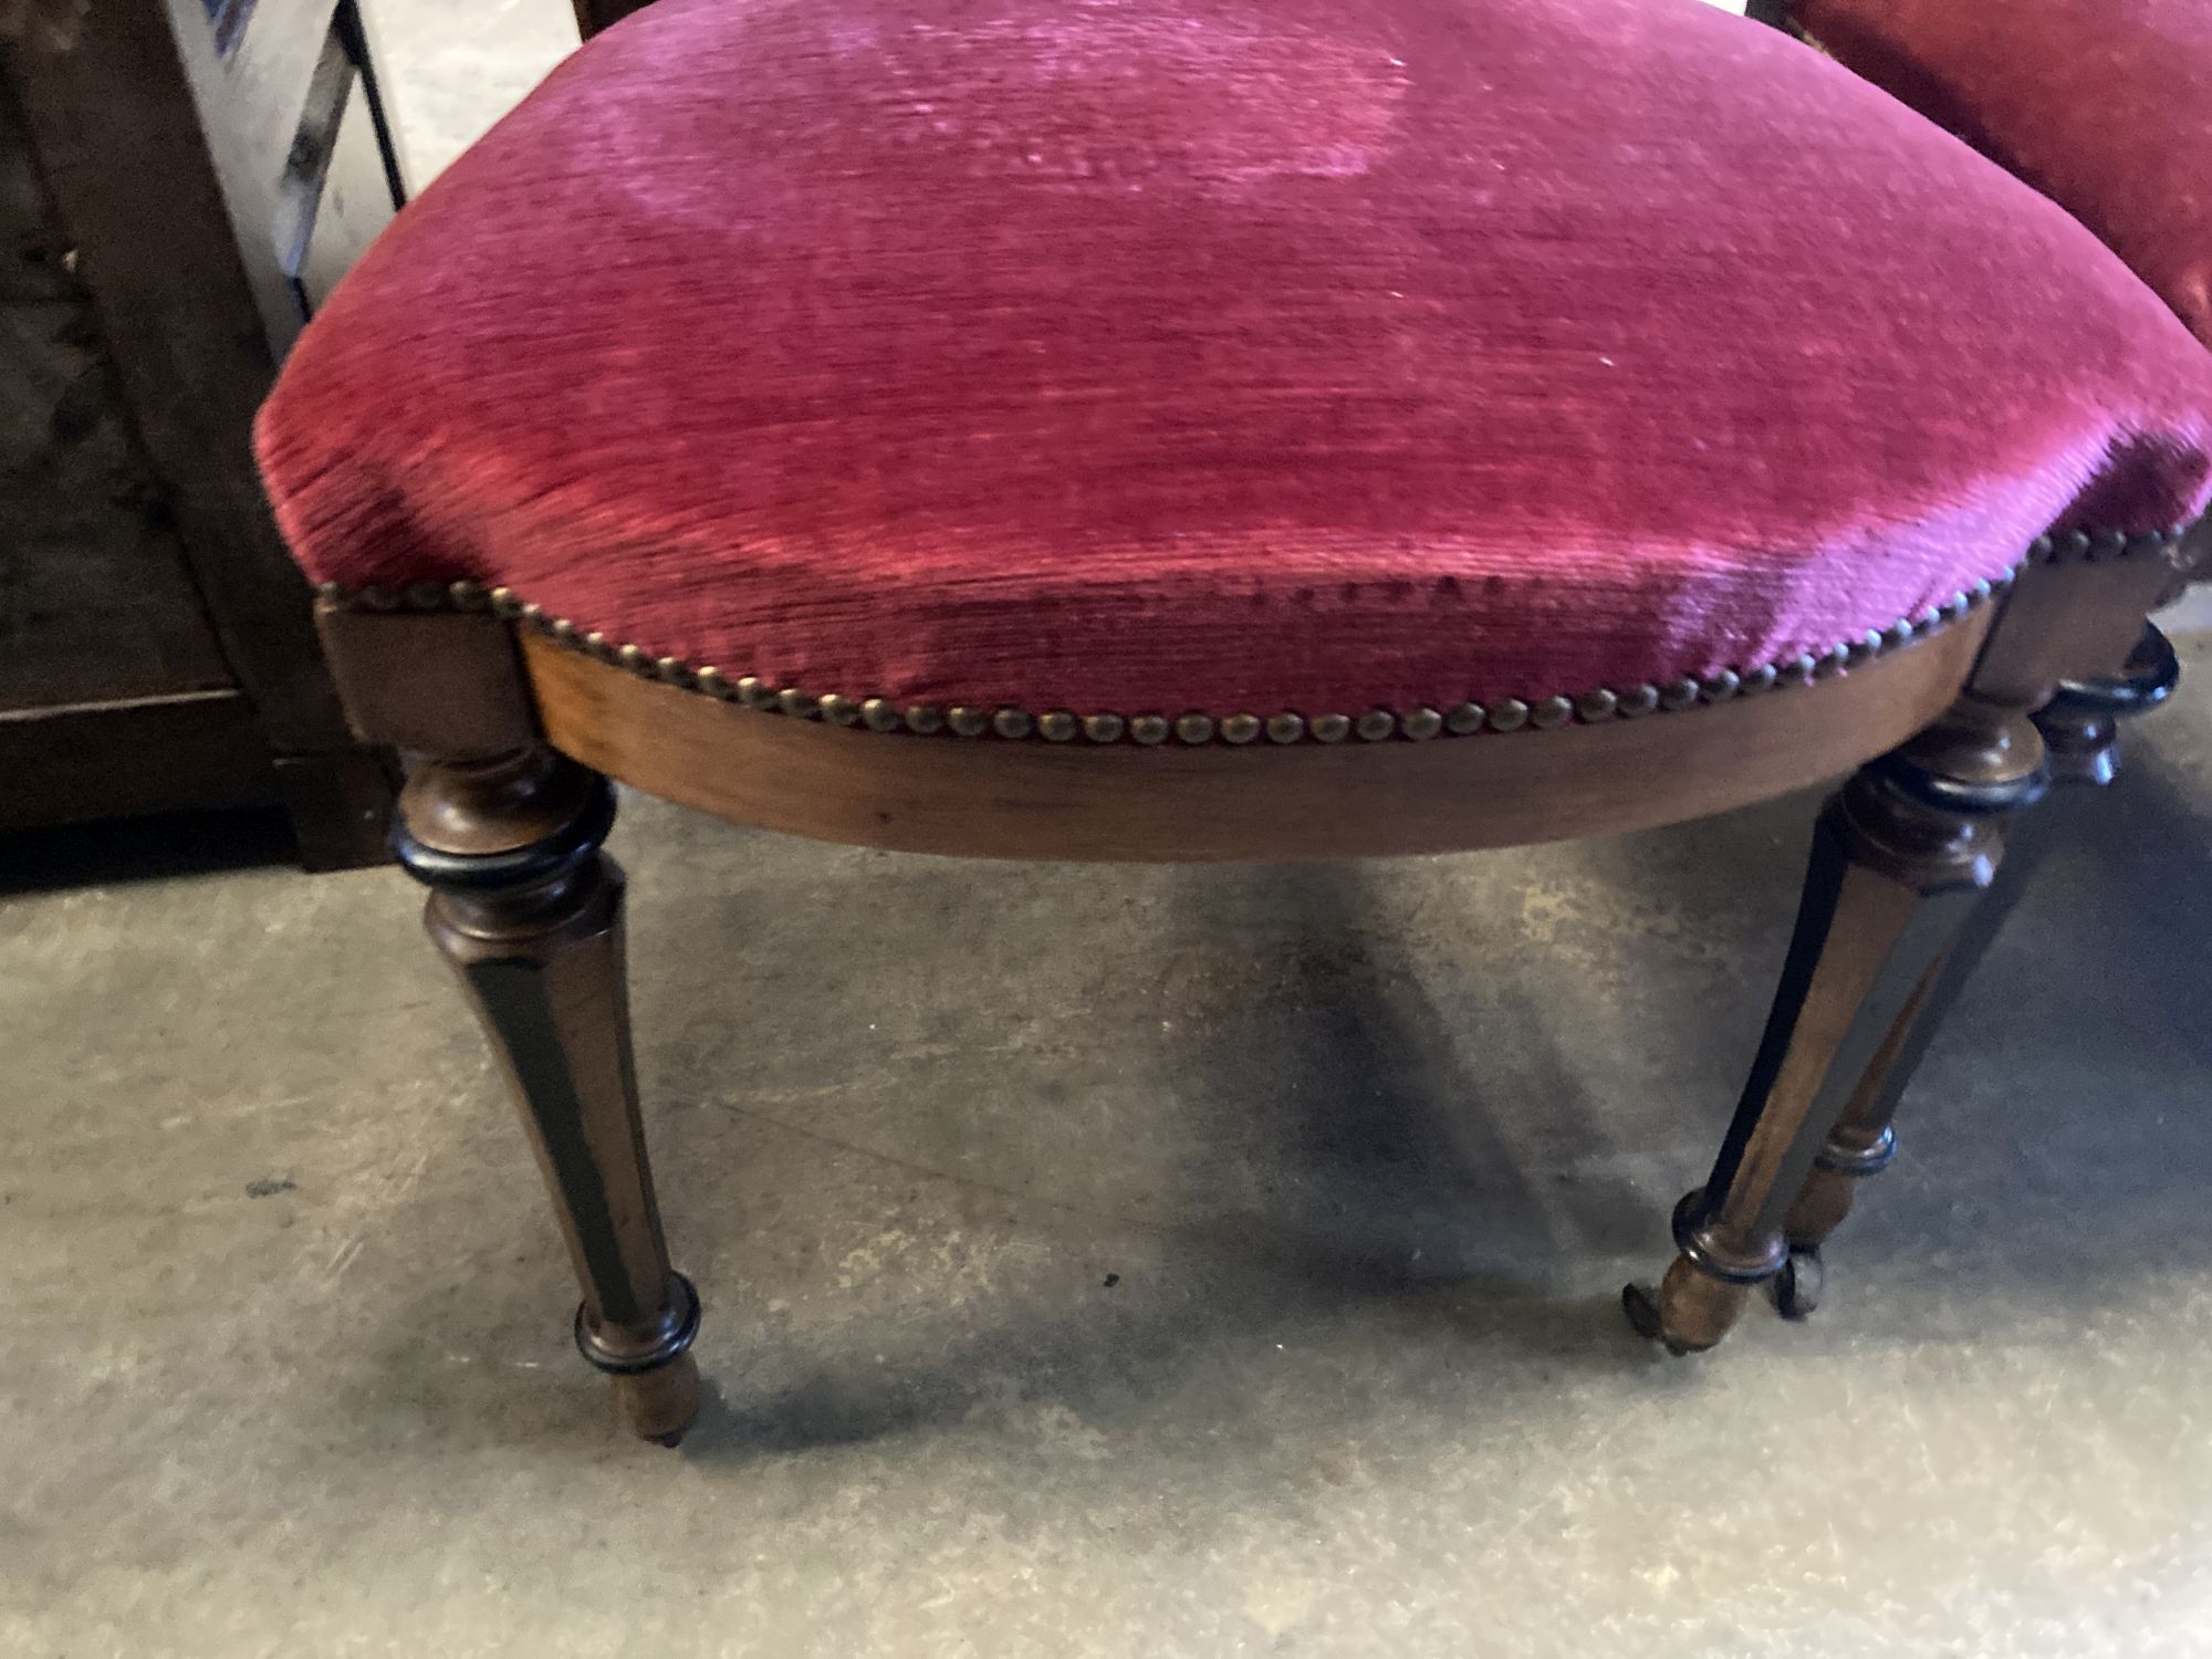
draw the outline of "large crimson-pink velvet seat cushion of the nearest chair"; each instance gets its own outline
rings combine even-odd
[[[2185,518],[2208,440],[2095,237],[1697,0],[661,0],[261,420],[321,580],[1170,714],[1825,650]]]

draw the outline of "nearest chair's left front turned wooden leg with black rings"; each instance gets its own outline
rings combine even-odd
[[[622,964],[622,872],[599,843],[606,779],[546,750],[416,768],[400,860],[460,973],[584,1287],[575,1340],[630,1427],[675,1444],[699,1407],[699,1296],[668,1265],[637,1115]]]

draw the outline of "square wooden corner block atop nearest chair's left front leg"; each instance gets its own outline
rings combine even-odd
[[[363,743],[467,761],[540,741],[515,639],[502,617],[319,602],[314,626],[345,719]]]

